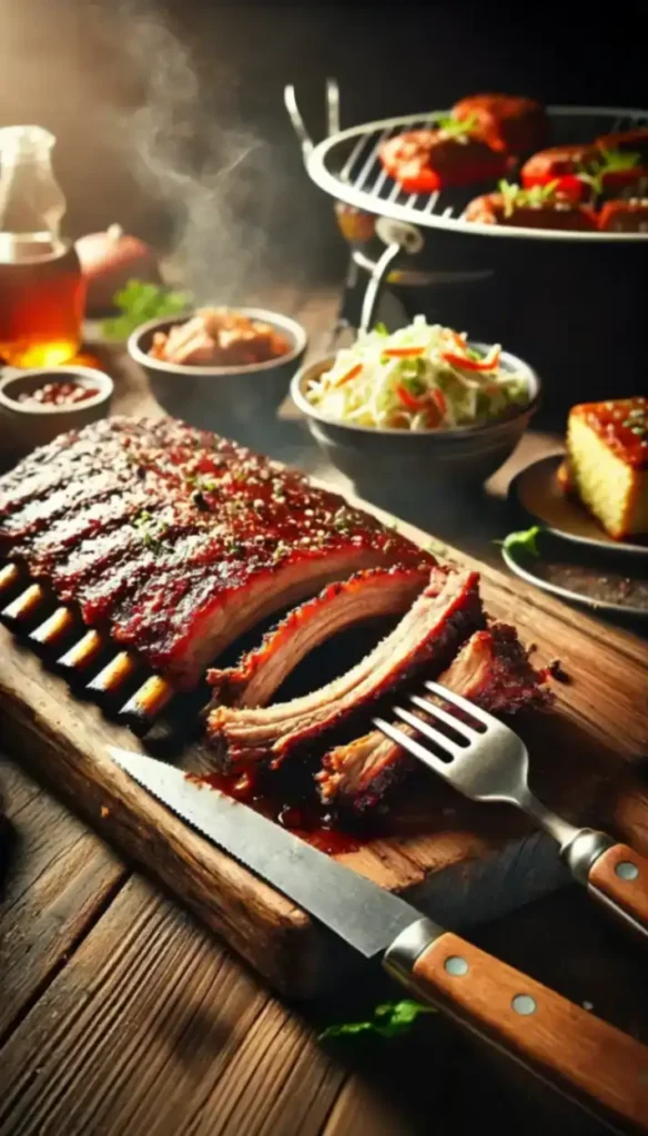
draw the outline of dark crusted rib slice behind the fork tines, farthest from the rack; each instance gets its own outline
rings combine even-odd
[[[510,713],[548,701],[549,694],[541,687],[545,677],[529,662],[515,628],[493,624],[468,640],[439,682],[491,713]],[[398,726],[407,734],[416,734],[400,721]],[[410,768],[412,761],[399,745],[380,730],[372,730],[325,755],[315,777],[319,796],[326,804],[366,809]]]

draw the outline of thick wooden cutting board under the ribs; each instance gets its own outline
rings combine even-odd
[[[430,540],[409,525],[400,529],[421,544]],[[532,787],[570,819],[606,827],[648,852],[648,779],[640,768],[648,758],[647,644],[454,549],[447,556],[482,573],[487,610],[537,644],[538,665],[559,658],[568,676],[554,683],[550,712],[518,721]],[[351,964],[332,935],[192,833],[106,754],[107,743],[156,752],[155,737],[138,742],[3,627],[0,736],[282,993],[310,996]],[[199,742],[174,760],[192,771],[209,768]],[[465,801],[432,775],[419,777],[416,793],[404,786],[383,833],[339,859],[452,927],[504,914],[567,879],[554,845],[523,817]]]

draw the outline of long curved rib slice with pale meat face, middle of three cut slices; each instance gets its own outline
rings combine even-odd
[[[208,716],[208,733],[226,762],[268,760],[276,767],[291,750],[366,712],[425,665],[438,673],[482,621],[477,573],[433,568],[398,627],[346,675],[265,709],[219,707]]]

